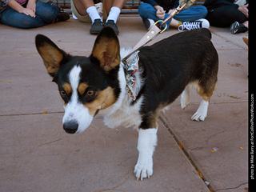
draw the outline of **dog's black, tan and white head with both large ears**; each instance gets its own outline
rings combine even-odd
[[[81,133],[90,126],[98,110],[116,102],[120,92],[120,48],[114,30],[106,27],[98,34],[89,57],[66,54],[42,34],[36,36],[35,42],[64,102],[64,130],[69,134]]]

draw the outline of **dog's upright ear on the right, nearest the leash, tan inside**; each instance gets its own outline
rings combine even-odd
[[[92,52],[98,58],[100,65],[106,72],[120,64],[120,46],[118,37],[111,27],[104,27],[94,42]]]

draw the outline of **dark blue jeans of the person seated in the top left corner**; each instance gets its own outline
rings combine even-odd
[[[27,3],[26,3],[27,4]],[[24,7],[26,7],[26,4]],[[22,29],[30,29],[39,26],[46,26],[54,22],[59,13],[58,6],[52,6],[45,2],[36,2],[35,18],[9,8],[2,12],[1,22],[7,26],[14,26]]]

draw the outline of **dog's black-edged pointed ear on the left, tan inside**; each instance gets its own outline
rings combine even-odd
[[[56,78],[58,69],[63,60],[69,57],[68,54],[66,54],[63,50],[60,50],[58,46],[56,46],[54,42],[50,40],[50,38],[47,38],[42,34],[38,34],[35,37],[35,45],[38,53],[42,57],[48,74],[50,74],[50,76],[53,78]]]

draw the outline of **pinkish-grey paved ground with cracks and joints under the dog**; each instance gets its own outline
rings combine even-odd
[[[119,18],[118,27],[121,46],[134,46],[146,33],[136,17]],[[96,36],[89,29],[72,18],[32,30],[0,25],[0,191],[248,191],[246,34],[210,27],[219,74],[208,117],[190,120],[197,94],[186,110],[178,98],[161,114],[154,174],[138,182],[137,131],[109,129],[98,116],[82,134],[66,134],[57,86],[34,46],[34,36],[45,34],[70,54],[90,54]]]

